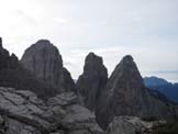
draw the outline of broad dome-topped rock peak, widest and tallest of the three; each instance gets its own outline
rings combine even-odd
[[[62,55],[47,40],[40,40],[29,47],[21,59],[22,65],[37,78],[58,88],[58,91],[75,91],[75,83],[63,67]]]

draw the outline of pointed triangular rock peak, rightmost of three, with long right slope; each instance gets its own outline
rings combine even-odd
[[[97,121],[107,129],[115,115],[173,118],[171,105],[151,96],[129,55],[115,67],[97,105]],[[104,118],[103,118],[104,116]]]

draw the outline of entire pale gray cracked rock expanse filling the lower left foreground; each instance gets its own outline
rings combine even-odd
[[[34,93],[0,87],[2,134],[103,134],[94,114],[78,104],[74,92],[51,98],[45,104]]]

